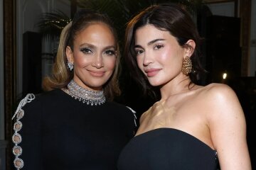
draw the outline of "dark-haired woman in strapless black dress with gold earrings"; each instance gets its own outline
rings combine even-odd
[[[142,114],[119,170],[250,170],[245,115],[224,84],[199,86],[200,37],[185,8],[150,6],[129,21],[125,57],[145,93],[161,100]]]

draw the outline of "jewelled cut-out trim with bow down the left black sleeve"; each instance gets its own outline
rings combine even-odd
[[[22,154],[22,148],[18,146],[18,144],[22,141],[21,135],[18,133],[18,131],[22,128],[22,123],[20,120],[24,116],[24,111],[22,107],[25,106],[26,103],[30,103],[31,101],[33,101],[35,98],[36,96],[34,94],[27,94],[26,97],[23,98],[18,104],[18,108],[16,109],[14,116],[11,118],[11,120],[14,120],[14,118],[16,117],[16,122],[14,123],[14,135],[12,136],[12,142],[14,142],[12,152],[15,156],[14,166],[17,170],[22,169],[24,166],[23,160],[18,158]]]

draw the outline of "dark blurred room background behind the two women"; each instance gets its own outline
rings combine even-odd
[[[168,0],[166,0],[168,1]],[[124,29],[134,14],[157,0],[0,0],[0,169],[12,167],[11,117],[28,93],[42,92],[50,75],[62,28],[79,8],[107,13],[118,30],[121,50]],[[247,142],[256,168],[256,1],[169,0],[187,6],[198,26],[203,67],[200,84],[231,86],[247,120]],[[142,96],[124,60],[119,78],[122,96],[115,100],[137,111],[138,117],[156,101]]]

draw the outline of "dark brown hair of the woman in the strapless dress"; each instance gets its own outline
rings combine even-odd
[[[137,65],[137,55],[134,50],[134,34],[138,28],[151,24],[159,30],[167,30],[173,35],[181,47],[188,47],[186,42],[194,40],[196,48],[191,55],[193,71],[189,74],[191,81],[194,84],[198,83],[199,75],[204,71],[199,61],[201,38],[196,29],[196,25],[191,18],[191,15],[186,11],[185,6],[179,4],[158,4],[149,6],[144,11],[134,16],[127,24],[125,33],[124,59],[127,62],[132,77],[142,85],[144,94],[152,92],[155,94],[155,88],[152,87],[142,71]]]

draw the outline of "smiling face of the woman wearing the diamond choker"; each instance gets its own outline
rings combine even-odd
[[[85,89],[101,90],[116,65],[114,35],[105,23],[93,23],[75,36],[73,50],[66,49],[74,64],[74,81]]]

